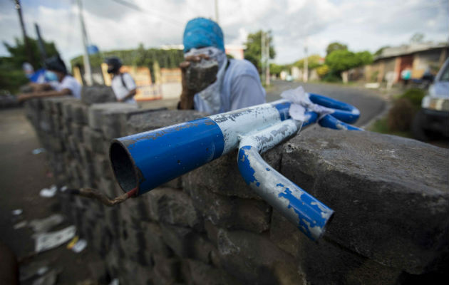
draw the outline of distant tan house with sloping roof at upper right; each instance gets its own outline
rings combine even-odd
[[[401,81],[401,72],[411,68],[412,79],[422,78],[425,71],[434,75],[443,65],[449,54],[448,43],[416,43],[410,46],[384,48],[373,63],[349,71],[349,80],[381,82],[389,78],[393,83]]]

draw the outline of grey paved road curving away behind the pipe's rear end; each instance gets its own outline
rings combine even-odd
[[[386,107],[386,102],[374,90],[358,87],[346,87],[336,84],[317,84],[287,81],[272,81],[272,86],[267,88],[267,102],[280,99],[280,94],[291,88],[302,86],[306,92],[326,95],[336,100],[349,103],[360,110],[360,118],[354,124],[366,125],[370,120],[380,114]]]

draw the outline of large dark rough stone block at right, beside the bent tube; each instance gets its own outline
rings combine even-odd
[[[320,129],[287,142],[282,172],[336,211],[329,239],[421,274],[447,254],[448,158],[416,140]]]

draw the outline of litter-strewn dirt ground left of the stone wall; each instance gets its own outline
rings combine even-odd
[[[89,252],[89,247],[76,254],[63,244],[34,255],[32,229],[14,229],[14,225],[21,221],[29,222],[57,213],[59,206],[56,197],[39,196],[41,189],[53,184],[53,178],[45,153],[32,154],[41,146],[26,120],[24,109],[0,110],[0,132],[0,242],[14,251],[22,269],[36,261],[48,263],[49,269],[59,271],[58,284],[80,284],[93,279],[90,264],[96,261],[96,255]],[[11,213],[14,209],[22,209],[23,213],[15,216]],[[54,230],[68,225],[63,222]],[[32,281],[29,279],[21,284],[32,284]]]

